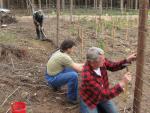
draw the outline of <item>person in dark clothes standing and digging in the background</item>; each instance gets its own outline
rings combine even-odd
[[[44,30],[43,20],[44,20],[44,14],[42,10],[38,10],[33,13],[33,21],[36,28],[36,34],[37,34],[36,39],[40,39],[40,40],[46,39],[46,36],[43,31]]]

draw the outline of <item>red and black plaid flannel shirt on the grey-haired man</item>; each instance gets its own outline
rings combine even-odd
[[[80,97],[91,109],[95,108],[101,101],[109,100],[119,95],[123,89],[119,84],[109,88],[107,70],[117,71],[126,67],[126,60],[112,62],[105,59],[103,67],[100,67],[101,76],[98,76],[86,63],[81,73]]]

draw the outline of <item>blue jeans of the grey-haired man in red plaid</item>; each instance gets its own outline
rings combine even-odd
[[[90,109],[80,99],[80,113],[118,113],[117,108],[111,100],[100,102],[96,108]]]

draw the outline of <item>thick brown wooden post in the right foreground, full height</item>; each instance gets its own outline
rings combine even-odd
[[[143,68],[145,41],[147,35],[147,19],[149,0],[140,0],[139,27],[138,27],[138,48],[136,62],[136,81],[134,91],[133,113],[140,113],[143,89]],[[148,106],[147,106],[148,107]]]

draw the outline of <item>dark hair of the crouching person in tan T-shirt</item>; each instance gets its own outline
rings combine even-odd
[[[73,40],[65,39],[60,45],[60,51],[64,52],[67,49],[72,48],[73,46],[75,46],[75,42]]]

